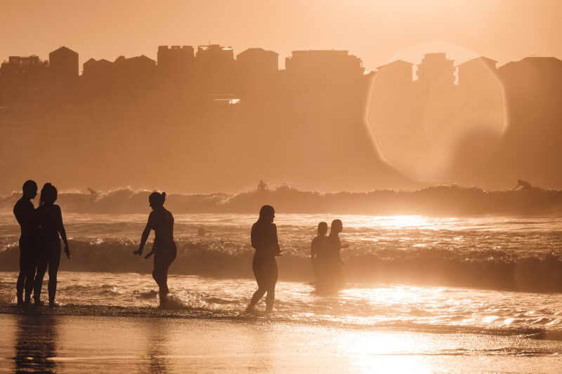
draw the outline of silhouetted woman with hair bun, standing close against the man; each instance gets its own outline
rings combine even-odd
[[[65,242],[65,254],[70,258],[70,248],[66,239],[63,214],[60,206],[55,205],[57,189],[51,183],[45,183],[39,197],[37,222],[39,223],[39,244],[37,247],[37,275],[35,276],[33,298],[36,305],[41,305],[41,288],[43,277],[48,267],[48,306],[55,306],[57,292],[57,272],[60,264],[60,236]]]

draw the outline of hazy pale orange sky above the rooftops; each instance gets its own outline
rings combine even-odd
[[[562,1],[0,0],[0,60],[68,46],[87,59],[156,58],[164,44],[260,46],[280,53],[346,49],[367,69],[422,51],[500,63],[526,55],[562,58]]]

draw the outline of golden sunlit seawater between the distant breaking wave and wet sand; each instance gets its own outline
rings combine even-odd
[[[175,215],[178,258],[169,275],[171,309],[164,311],[157,308],[151,260],[132,255],[147,217],[65,214],[71,258],[61,260],[60,307],[34,313],[476,334],[528,342],[489,354],[561,352],[562,226],[556,216],[277,214],[284,255],[275,312],[250,316],[242,312],[256,289],[249,246],[255,215]],[[341,240],[349,244],[342,250],[347,283],[323,292],[313,284],[309,247],[318,222],[334,218],[343,220]],[[197,236],[200,227],[205,236]],[[0,312],[33,310],[14,305],[18,226],[11,213],[0,215],[0,238]]]

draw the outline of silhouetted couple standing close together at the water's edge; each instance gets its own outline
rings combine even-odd
[[[37,183],[27,180],[23,184],[22,198],[13,207],[13,213],[21,228],[20,274],[16,283],[16,295],[18,305],[28,305],[31,303],[33,292],[35,305],[41,305],[43,277],[48,269],[48,305],[53,307],[60,264],[60,237],[65,243],[67,258],[70,258],[70,248],[63,225],[63,215],[60,207],[55,205],[57,189],[51,183],[45,183],[41,189],[37,209],[31,202],[35,196]]]

